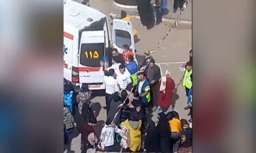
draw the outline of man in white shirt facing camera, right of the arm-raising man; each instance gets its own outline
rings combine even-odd
[[[125,65],[119,65],[119,71],[117,71],[116,74],[117,74],[117,82],[121,90],[126,89],[126,86],[129,83],[132,83],[132,80],[130,78],[130,73],[128,69],[126,69]]]

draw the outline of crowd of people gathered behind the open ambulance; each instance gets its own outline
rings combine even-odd
[[[100,62],[100,75],[106,86],[106,122],[98,139],[94,131],[96,114],[91,109],[94,93],[88,84],[82,84],[79,92],[75,92],[72,83],[64,79],[66,143],[70,143],[69,131],[76,128],[81,133],[82,153],[94,147],[104,152],[120,151],[115,150],[116,144],[123,152],[191,152],[192,129],[187,120],[180,120],[179,114],[173,111],[175,82],[171,71],[161,76],[149,51],[138,65],[129,46],[124,45],[123,50],[119,54],[117,49],[112,49],[111,65]],[[192,50],[190,61],[181,68],[184,70],[182,85],[188,97],[188,106],[184,109],[190,109],[189,121],[192,122]],[[152,112],[156,111],[158,120],[154,122]]]

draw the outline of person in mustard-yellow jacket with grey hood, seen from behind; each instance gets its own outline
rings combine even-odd
[[[137,152],[141,149],[141,120],[137,114],[132,114],[130,119],[125,120],[120,124],[125,126],[130,132],[130,150]]]

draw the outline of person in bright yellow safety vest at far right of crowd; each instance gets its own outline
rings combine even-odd
[[[191,81],[191,75],[192,75],[192,62],[186,63],[186,71],[183,78],[183,86],[186,88],[186,96],[188,96],[188,91],[192,87],[192,81]]]

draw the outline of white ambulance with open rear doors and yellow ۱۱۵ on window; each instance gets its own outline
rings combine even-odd
[[[76,85],[87,83],[91,90],[104,89],[100,61],[103,56],[111,59],[111,46],[120,53],[124,44],[134,50],[132,24],[114,19],[111,35],[102,12],[71,0],[64,0],[63,5],[63,77]]]

